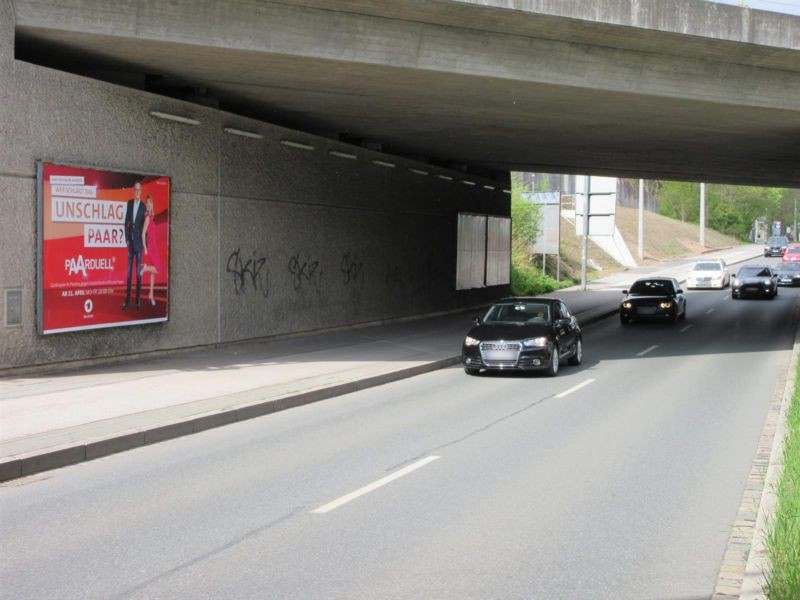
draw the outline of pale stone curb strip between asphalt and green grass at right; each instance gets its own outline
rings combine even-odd
[[[795,337],[789,368],[776,383],[769,413],[753,458],[752,468],[733,531],[722,559],[712,600],[764,600],[770,569],[766,526],[776,508],[776,489],[783,467],[786,412],[792,401],[800,356],[800,307],[795,306]]]

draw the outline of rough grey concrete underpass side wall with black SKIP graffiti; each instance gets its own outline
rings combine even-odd
[[[445,181],[435,167],[15,61],[8,0],[0,0],[0,50],[0,289],[23,292],[23,325],[2,329],[0,369],[391,320],[507,291],[456,292],[454,282],[457,213],[508,215],[508,181],[455,172]],[[157,120],[151,110],[201,125]],[[172,177],[167,323],[37,334],[38,159]],[[264,259],[256,285],[231,272],[237,256]]]

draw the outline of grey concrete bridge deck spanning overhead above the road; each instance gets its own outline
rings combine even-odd
[[[435,164],[800,187],[791,44],[503,2],[13,4],[20,60]]]

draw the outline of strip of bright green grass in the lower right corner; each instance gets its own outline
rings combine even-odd
[[[797,381],[800,382],[800,365]],[[766,590],[769,600],[800,598],[800,386],[797,384],[786,415],[786,429],[778,503],[767,534],[772,563]]]

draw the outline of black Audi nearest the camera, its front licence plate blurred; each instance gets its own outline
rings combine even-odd
[[[544,371],[555,376],[563,361],[583,360],[578,321],[557,298],[505,298],[469,330],[461,348],[464,371]]]

